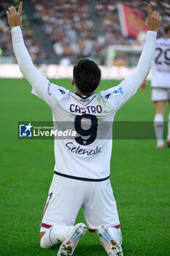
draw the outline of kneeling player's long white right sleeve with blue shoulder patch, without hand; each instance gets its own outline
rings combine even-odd
[[[155,53],[155,41],[157,33],[147,31],[147,38],[140,56],[136,69],[118,86],[112,87],[107,91],[102,91],[101,95],[107,99],[107,104],[112,106],[112,110],[118,110],[136,94],[137,89],[150,72],[152,59]]]

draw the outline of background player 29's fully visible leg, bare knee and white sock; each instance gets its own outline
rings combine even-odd
[[[154,129],[157,140],[157,148],[163,148],[163,115],[165,112],[165,102],[155,102]]]

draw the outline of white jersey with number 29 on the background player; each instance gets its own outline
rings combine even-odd
[[[156,40],[151,87],[170,88],[170,38]]]

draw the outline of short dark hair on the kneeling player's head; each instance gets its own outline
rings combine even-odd
[[[101,80],[101,69],[90,59],[80,59],[73,69],[74,83],[84,94],[95,91]]]

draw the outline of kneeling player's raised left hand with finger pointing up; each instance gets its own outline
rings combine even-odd
[[[20,1],[20,5],[18,8],[18,12],[15,9],[15,7],[9,7],[7,10],[7,18],[8,18],[8,23],[9,23],[9,27],[10,29],[12,29],[15,26],[20,26],[20,23],[22,22],[22,18],[21,18],[21,12],[23,9],[23,2]]]

